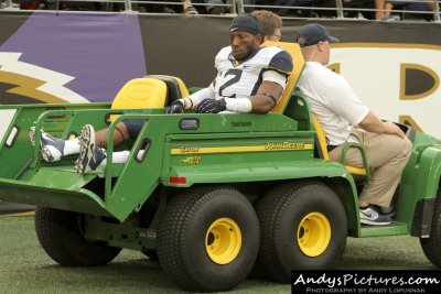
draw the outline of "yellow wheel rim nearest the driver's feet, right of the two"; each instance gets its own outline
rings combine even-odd
[[[297,241],[300,250],[308,257],[322,254],[331,241],[331,224],[320,213],[308,214],[297,230]]]

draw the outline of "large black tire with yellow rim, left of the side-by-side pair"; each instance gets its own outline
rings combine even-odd
[[[247,277],[257,258],[256,213],[233,187],[191,188],[168,205],[157,249],[162,269],[184,290],[232,288]]]

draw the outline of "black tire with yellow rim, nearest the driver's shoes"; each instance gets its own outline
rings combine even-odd
[[[337,195],[321,182],[281,184],[258,202],[256,213],[257,265],[273,281],[290,283],[291,270],[330,269],[343,255],[346,213]]]

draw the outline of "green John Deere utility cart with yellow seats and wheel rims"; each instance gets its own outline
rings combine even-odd
[[[354,171],[326,157],[308,100],[294,90],[300,48],[284,45],[295,70],[268,115],[166,115],[164,106],[186,95],[169,76],[138,80],[166,87],[148,97],[150,108],[1,106],[0,113],[12,111],[13,118],[0,145],[0,200],[36,206],[36,236],[61,265],[104,265],[122,248],[138,250],[194,292],[229,290],[252,268],[283,283],[293,269],[333,268],[347,237],[411,235],[441,268],[441,141],[400,126],[413,150],[396,217],[388,226],[362,226],[357,198],[369,168]],[[143,84],[135,85],[132,94],[123,90],[127,97],[143,92]],[[108,145],[103,170],[78,174],[76,156],[55,163],[41,157],[42,129],[67,139],[90,123],[108,127],[112,137],[128,118],[143,120],[142,131],[133,142]],[[32,126],[35,148],[28,138]],[[127,163],[111,163],[114,150],[127,149]]]

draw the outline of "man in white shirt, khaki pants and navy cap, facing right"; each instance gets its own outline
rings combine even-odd
[[[370,182],[361,193],[359,219],[366,225],[388,225],[392,214],[387,211],[405,168],[412,143],[401,129],[390,121],[381,121],[369,110],[351,88],[346,79],[326,65],[330,62],[331,43],[338,42],[323,25],[310,23],[302,26],[297,42],[306,62],[298,87],[308,97],[327,139],[330,159],[340,161],[348,142],[363,144]],[[363,167],[357,149],[348,149],[346,163]]]

